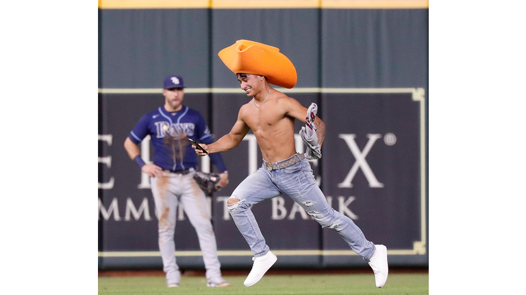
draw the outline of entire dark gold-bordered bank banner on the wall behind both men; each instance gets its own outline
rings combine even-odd
[[[423,90],[300,89],[287,94],[305,107],[316,102],[325,122],[323,156],[310,164],[329,204],[353,219],[368,240],[385,244],[390,262],[427,264]],[[239,89],[186,89],[184,104],[203,114],[218,139],[229,132],[249,99]],[[99,268],[162,266],[149,178],[123,148],[140,117],[162,104],[159,92],[99,93]],[[298,152],[305,150],[299,137],[302,125],[295,125]],[[149,162],[153,150],[147,139],[140,149]],[[223,267],[251,266],[252,254],[226,201],[262,165],[253,133],[224,152],[223,159],[229,184],[208,197],[218,255]],[[214,170],[208,156],[199,163],[203,171]],[[268,246],[280,257],[277,266],[364,264],[336,231],[322,229],[286,195],[262,201],[252,210]],[[197,234],[182,208],[177,212],[175,246],[179,266],[203,266]]]

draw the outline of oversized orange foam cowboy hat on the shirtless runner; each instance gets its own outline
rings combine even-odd
[[[266,76],[268,83],[292,88],[298,75],[292,61],[279,48],[266,44],[238,40],[217,54],[234,74],[257,74]]]

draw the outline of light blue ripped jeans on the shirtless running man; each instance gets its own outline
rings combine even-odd
[[[375,244],[366,240],[362,230],[349,217],[329,206],[325,195],[316,185],[308,160],[303,159],[284,169],[272,171],[262,165],[258,171],[245,178],[230,197],[239,200],[229,206],[229,212],[255,257],[265,255],[269,249],[250,208],[255,203],[282,193],[299,203],[322,227],[336,230],[349,247],[364,259],[373,256]]]

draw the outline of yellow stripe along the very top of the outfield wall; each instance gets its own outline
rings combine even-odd
[[[101,9],[428,9],[429,0],[99,0]]]

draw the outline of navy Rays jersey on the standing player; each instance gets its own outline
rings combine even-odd
[[[198,111],[183,106],[180,111],[168,112],[163,107],[142,116],[129,139],[140,143],[147,135],[153,145],[153,164],[166,170],[186,170],[197,167],[197,154],[186,137],[210,144],[212,135]],[[219,173],[227,171],[221,154],[210,154]]]

